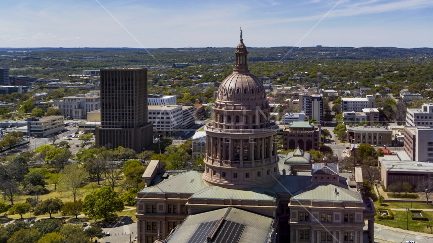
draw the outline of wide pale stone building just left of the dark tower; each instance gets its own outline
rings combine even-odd
[[[100,96],[75,95],[64,97],[57,106],[60,113],[68,119],[86,119],[87,112],[101,108]]]

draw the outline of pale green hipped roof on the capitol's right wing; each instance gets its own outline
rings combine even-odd
[[[338,195],[335,193],[338,191]],[[362,201],[360,194],[347,186],[340,184],[336,186],[330,183],[320,183],[307,186],[298,191],[293,197],[294,200],[318,200],[318,201]]]

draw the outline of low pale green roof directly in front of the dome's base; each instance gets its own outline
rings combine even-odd
[[[234,199],[234,200],[270,200],[275,199],[275,191],[267,188],[252,187],[247,189],[227,189],[219,186],[205,188],[190,198]]]

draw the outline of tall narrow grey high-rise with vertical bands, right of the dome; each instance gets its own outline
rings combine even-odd
[[[299,111],[305,111],[308,119],[323,123],[323,95],[299,95]]]

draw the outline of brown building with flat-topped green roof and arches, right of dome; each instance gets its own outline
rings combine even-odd
[[[314,126],[308,121],[294,121],[282,131],[283,149],[308,151],[318,149],[320,141],[320,125]]]

